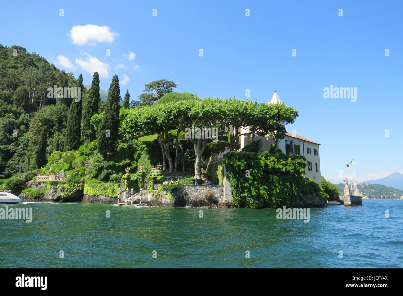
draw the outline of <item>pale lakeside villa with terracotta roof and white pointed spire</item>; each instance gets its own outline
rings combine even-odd
[[[273,97],[270,100],[269,104],[284,104],[284,102],[280,101],[280,98],[277,95],[277,92],[274,91]],[[284,125],[284,123],[283,123]],[[245,132],[249,132],[251,130],[251,126],[241,127],[241,134]],[[251,143],[252,141],[262,140],[262,150],[270,151],[270,145],[274,143],[274,140],[270,135],[266,136],[256,136],[256,135],[242,135],[239,137],[239,143],[241,144],[241,149]],[[285,138],[278,141],[277,148],[281,149],[285,154],[299,154],[303,155],[307,160],[307,166],[305,167],[305,176],[312,180],[315,180],[316,183],[322,185],[322,180],[320,178],[320,155],[319,155],[319,143],[316,143],[312,140],[304,138],[299,135],[290,134],[286,132]]]

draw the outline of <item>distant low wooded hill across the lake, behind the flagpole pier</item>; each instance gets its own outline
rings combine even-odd
[[[339,187],[340,194],[344,194],[344,183],[336,185]],[[369,199],[400,199],[403,190],[381,184],[357,184],[358,190],[362,195]]]

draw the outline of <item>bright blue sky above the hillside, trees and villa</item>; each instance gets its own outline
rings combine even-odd
[[[246,99],[249,89],[259,102],[276,88],[299,110],[287,130],[321,144],[322,175],[342,182],[350,157],[362,181],[403,170],[402,8],[400,1],[20,1],[0,11],[0,43],[83,73],[84,84],[95,68],[105,90],[117,74],[121,96],[129,89],[131,99],[157,79],[199,97]],[[330,85],[357,87],[357,100],[324,98]]]

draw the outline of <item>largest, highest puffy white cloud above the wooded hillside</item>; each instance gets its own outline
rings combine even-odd
[[[74,26],[67,35],[76,45],[96,45],[95,41],[112,42],[114,36],[119,37],[119,33],[111,32],[109,27],[96,25]]]

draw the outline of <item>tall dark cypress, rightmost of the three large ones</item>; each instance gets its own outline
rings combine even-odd
[[[98,151],[104,158],[108,153],[114,152],[118,141],[120,100],[119,79],[118,75],[114,75],[105,103],[105,112],[97,130]]]

